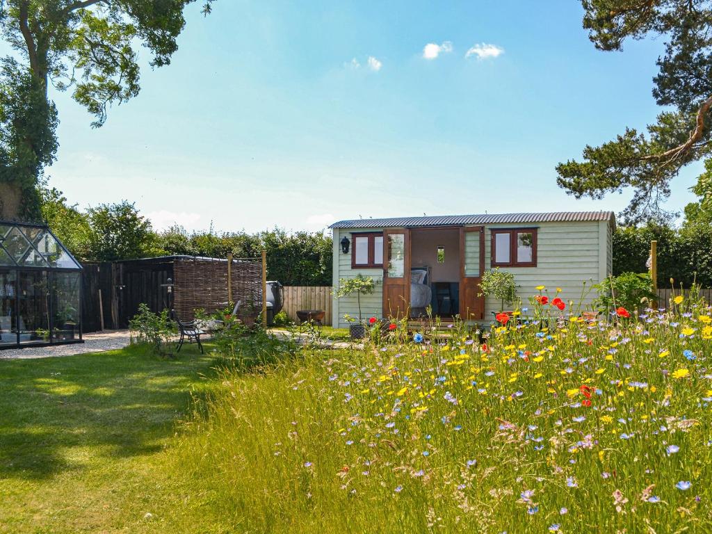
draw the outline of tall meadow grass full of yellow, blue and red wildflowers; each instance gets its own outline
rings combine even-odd
[[[712,531],[710,308],[570,308],[226,370],[177,466],[226,531]]]

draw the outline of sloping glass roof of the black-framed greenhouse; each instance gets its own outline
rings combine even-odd
[[[0,221],[0,268],[80,269],[48,226]]]

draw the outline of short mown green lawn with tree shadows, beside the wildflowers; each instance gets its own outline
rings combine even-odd
[[[194,348],[0,360],[0,532],[164,531],[175,423],[219,384]]]

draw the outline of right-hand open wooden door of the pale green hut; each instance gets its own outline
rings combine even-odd
[[[471,226],[460,229],[460,318],[483,320],[485,298],[480,282],[485,270],[485,229]]]

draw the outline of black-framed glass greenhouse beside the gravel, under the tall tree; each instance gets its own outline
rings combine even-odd
[[[46,225],[0,221],[0,350],[82,342],[81,276]]]

